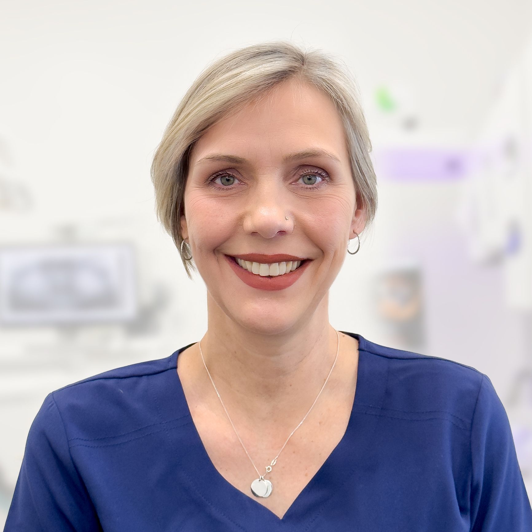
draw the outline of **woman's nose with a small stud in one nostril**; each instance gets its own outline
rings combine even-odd
[[[275,177],[259,181],[247,201],[244,230],[250,234],[258,233],[264,238],[273,238],[279,232],[292,232],[293,216],[284,185]]]

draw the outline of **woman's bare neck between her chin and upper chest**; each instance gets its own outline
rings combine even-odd
[[[320,399],[342,384],[343,335],[337,336],[330,325],[326,304],[327,301],[306,319],[304,326],[268,335],[239,327],[221,312],[209,312],[209,327],[201,339],[201,350],[231,419],[240,419],[248,426],[263,423],[268,426],[281,417],[283,423],[293,428],[320,392],[337,350],[335,367]],[[214,408],[223,413],[205,370],[200,344],[195,347],[202,395],[218,403]]]

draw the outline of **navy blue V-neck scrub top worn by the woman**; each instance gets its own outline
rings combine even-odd
[[[214,468],[177,373],[189,344],[48,394],[5,532],[532,531],[489,378],[345,334],[360,352],[346,432],[282,519]]]

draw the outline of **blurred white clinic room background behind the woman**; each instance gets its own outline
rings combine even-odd
[[[275,38],[347,64],[373,143],[331,324],[485,373],[532,495],[532,3],[3,0],[0,525],[49,392],[205,334],[149,165],[200,71]]]

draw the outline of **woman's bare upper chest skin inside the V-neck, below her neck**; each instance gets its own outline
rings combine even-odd
[[[234,488],[280,519],[346,434],[358,376],[358,344],[352,338],[343,338],[340,354],[335,369],[343,376],[341,385],[331,386],[335,392],[329,396],[323,394],[301,425],[298,426],[306,411],[301,412],[293,426],[284,423],[283,428],[270,424],[268,429],[259,426],[246,430],[231,418],[238,436],[223,410],[218,409],[214,414],[212,407],[204,408],[203,401],[195,400],[195,387],[191,384],[194,379],[187,378],[187,366],[181,365],[180,378],[190,415],[214,469]],[[203,368],[200,370],[203,373]],[[282,418],[282,412],[279,417]],[[266,467],[276,456],[275,465],[267,473]],[[272,483],[268,497],[257,497],[251,491],[251,484],[259,475]]]

